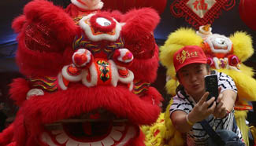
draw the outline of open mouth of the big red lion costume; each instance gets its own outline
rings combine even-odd
[[[126,119],[113,117],[110,120],[105,117],[66,119],[45,127],[46,132],[42,134],[41,141],[50,146],[122,146],[139,134],[139,126],[132,125]]]

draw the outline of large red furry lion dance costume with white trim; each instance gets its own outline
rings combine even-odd
[[[1,146],[145,145],[139,126],[161,111],[161,94],[150,86],[158,69],[158,13],[103,12],[100,5],[85,12],[81,5],[89,1],[62,9],[35,0],[13,21],[26,78],[11,84],[20,109],[0,133]]]

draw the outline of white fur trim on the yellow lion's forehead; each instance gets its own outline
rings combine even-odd
[[[232,49],[231,40],[224,35],[210,35],[206,38],[206,42],[209,44],[210,49],[213,53],[229,53]],[[221,42],[224,42],[224,44],[222,44]],[[214,46],[218,46],[221,48],[227,47],[228,49],[214,49]]]

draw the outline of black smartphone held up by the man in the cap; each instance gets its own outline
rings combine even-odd
[[[206,92],[209,92],[209,95],[206,100],[210,100],[211,97],[215,97],[215,101],[216,101],[217,97],[219,96],[217,75],[206,75],[205,85],[206,85]]]

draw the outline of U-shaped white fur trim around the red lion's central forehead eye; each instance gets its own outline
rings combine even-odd
[[[91,26],[89,24],[86,24],[84,21],[88,20],[88,23],[89,23],[89,20],[90,20],[91,16],[94,16],[94,15],[95,15],[95,13],[91,13],[87,16],[83,16],[83,18],[79,22],[80,27],[83,28],[83,31],[85,32],[87,37],[91,41],[94,41],[94,42],[101,41],[101,40],[108,40],[108,41],[112,41],[112,42],[116,41],[117,38],[119,38],[119,35],[120,35],[120,32],[121,32],[121,24],[119,24],[117,22],[117,20],[113,19],[113,21],[116,22],[116,27],[114,28],[114,29],[116,29],[115,35],[107,35],[107,34],[93,35],[92,31],[91,31]]]

